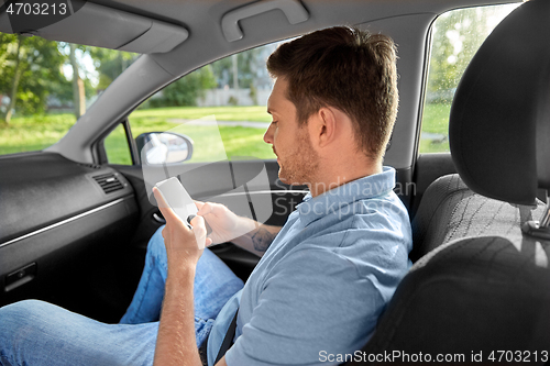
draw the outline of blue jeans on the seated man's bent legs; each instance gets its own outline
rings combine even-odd
[[[161,231],[151,237],[138,290],[119,324],[37,300],[9,304],[0,308],[0,365],[152,365],[167,269]],[[242,287],[242,280],[205,249],[194,288],[197,346]]]

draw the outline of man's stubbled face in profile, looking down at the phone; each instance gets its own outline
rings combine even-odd
[[[319,157],[311,145],[307,124],[298,125],[296,107],[286,98],[288,82],[277,78],[267,100],[273,122],[264,141],[273,145],[279,165],[278,177],[287,185],[310,185],[316,181]]]

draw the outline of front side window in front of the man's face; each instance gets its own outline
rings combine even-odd
[[[265,62],[279,43],[206,65],[148,98],[129,115],[132,134],[176,131],[193,141],[188,162],[275,158],[263,142],[273,87]]]

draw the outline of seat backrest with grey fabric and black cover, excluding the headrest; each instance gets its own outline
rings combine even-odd
[[[439,354],[473,362],[472,352],[549,350],[550,242],[521,232],[546,204],[519,210],[473,192],[459,175],[439,178],[427,197],[414,229],[416,253],[428,254],[397,288],[364,359],[391,354],[398,356],[392,362],[416,362],[403,357],[421,352],[432,362]],[[359,364],[365,363],[350,365]]]

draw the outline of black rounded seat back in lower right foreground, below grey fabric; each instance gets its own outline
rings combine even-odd
[[[364,362],[351,365],[413,363],[419,359],[405,354],[420,353],[425,362],[488,363],[492,354],[498,359],[497,351],[518,350],[534,362],[535,352],[550,350],[549,253],[548,245],[502,236],[439,246],[404,278],[362,350]],[[376,358],[384,354],[398,357]]]

